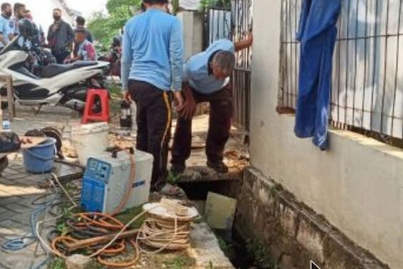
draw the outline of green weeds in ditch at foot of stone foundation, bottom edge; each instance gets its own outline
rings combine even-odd
[[[258,269],[281,269],[276,265],[269,255],[264,244],[259,239],[247,240],[247,251],[252,255],[254,259],[254,265]]]

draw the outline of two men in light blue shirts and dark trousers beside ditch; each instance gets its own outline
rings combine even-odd
[[[180,20],[169,14],[168,0],[143,0],[144,12],[130,19],[123,35],[122,90],[124,99],[137,105],[136,147],[153,154],[154,190],[175,192],[167,184],[168,142],[173,112],[177,125],[171,172],[185,171],[192,143],[192,118],[198,103],[210,103],[206,165],[226,173],[223,151],[230,136],[233,95],[230,76],[235,52],[252,45],[252,33],[240,42],[217,40],[183,62]]]

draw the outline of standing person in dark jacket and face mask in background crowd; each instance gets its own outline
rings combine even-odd
[[[63,64],[64,59],[69,57],[74,42],[74,30],[69,23],[62,19],[62,10],[54,8],[54,23],[47,32],[47,42],[52,50],[52,55],[58,64]]]

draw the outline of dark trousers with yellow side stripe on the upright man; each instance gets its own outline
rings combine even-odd
[[[129,81],[129,92],[137,106],[136,148],[152,154],[153,185],[167,176],[168,142],[171,126],[171,97],[166,91],[144,81]]]

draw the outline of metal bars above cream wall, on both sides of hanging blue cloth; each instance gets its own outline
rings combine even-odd
[[[296,108],[303,0],[281,0],[279,107]],[[330,124],[403,148],[403,0],[341,0]]]

